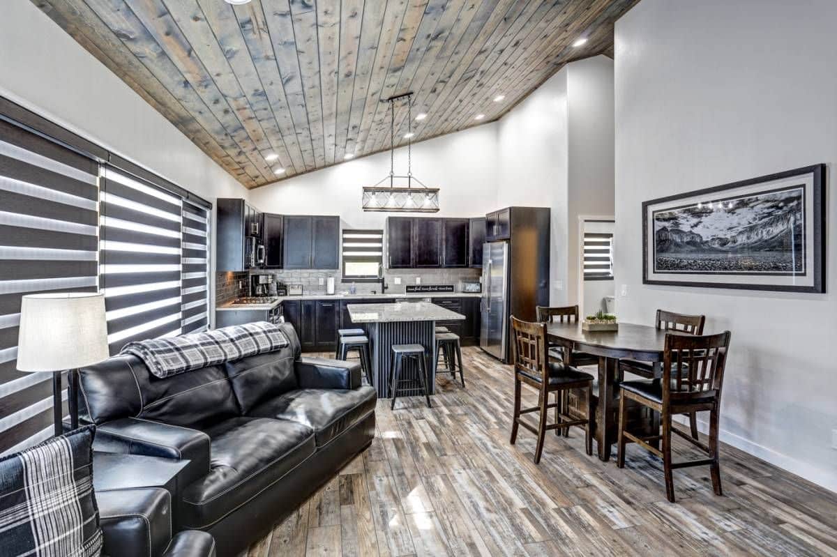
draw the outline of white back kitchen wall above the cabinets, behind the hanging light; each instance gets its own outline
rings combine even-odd
[[[439,217],[480,217],[497,208],[495,135],[490,123],[413,145],[413,176],[441,189]],[[344,227],[382,228],[388,213],[363,212],[361,188],[389,176],[389,168],[389,152],[377,153],[255,188],[250,200],[265,212],[340,215]],[[407,174],[406,147],[395,151],[395,174]]]

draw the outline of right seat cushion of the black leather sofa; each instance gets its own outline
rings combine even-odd
[[[372,386],[352,391],[299,389],[264,402],[255,407],[250,416],[299,422],[314,430],[317,447],[323,447],[375,411],[375,400]]]

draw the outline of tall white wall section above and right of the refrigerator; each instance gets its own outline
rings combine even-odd
[[[614,213],[614,61],[567,64],[499,122],[497,207],[552,209],[552,304],[578,300],[578,216]]]

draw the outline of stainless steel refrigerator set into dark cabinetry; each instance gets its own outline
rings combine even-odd
[[[509,244],[489,242],[482,246],[482,302],[480,304],[480,348],[506,360],[506,315],[509,286]]]

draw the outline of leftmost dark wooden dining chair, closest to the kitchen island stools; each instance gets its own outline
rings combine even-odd
[[[567,429],[573,426],[584,426],[584,445],[588,455],[593,454],[593,393],[591,386],[593,376],[577,370],[572,365],[561,361],[551,360],[548,354],[547,324],[529,323],[514,316],[511,318],[511,349],[512,363],[515,373],[514,417],[511,422],[511,444],[517,439],[517,427],[522,426],[537,435],[534,461],[541,462],[543,441],[550,429]],[[522,384],[537,389],[537,406],[521,409]],[[588,408],[583,419],[573,419],[560,412],[560,394],[568,389],[587,389]],[[556,393],[554,404],[549,403],[549,394]],[[547,424],[547,414],[550,408],[556,409],[556,422]],[[529,412],[540,412],[537,428],[531,427],[521,419],[521,415]]]

